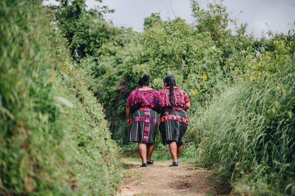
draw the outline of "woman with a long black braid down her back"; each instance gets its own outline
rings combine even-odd
[[[179,155],[182,150],[182,137],[188,125],[185,111],[190,107],[187,94],[176,88],[176,80],[173,75],[167,75],[163,79],[164,89],[159,92],[165,100],[165,105],[160,117],[160,132],[163,144],[169,144],[172,157],[171,166],[178,166]]]

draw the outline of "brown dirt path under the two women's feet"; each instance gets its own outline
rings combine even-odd
[[[131,165],[116,196],[206,196],[211,193],[213,183],[208,179],[211,171],[193,164],[179,162],[177,167],[169,167],[170,162],[155,162],[140,168],[140,162],[123,161]]]

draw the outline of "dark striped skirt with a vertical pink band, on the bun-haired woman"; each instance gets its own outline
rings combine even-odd
[[[128,142],[142,142],[154,144],[158,130],[159,117],[154,110],[137,110],[133,113],[132,123],[129,127]]]

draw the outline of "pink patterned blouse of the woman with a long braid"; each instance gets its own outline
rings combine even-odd
[[[169,110],[170,106],[170,88],[164,88],[160,91],[161,97],[165,100],[164,111]],[[187,94],[179,88],[174,88],[174,107],[173,110],[184,110],[185,103],[188,103],[189,99]]]

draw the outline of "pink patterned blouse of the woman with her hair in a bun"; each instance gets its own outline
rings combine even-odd
[[[142,106],[154,107],[156,103],[164,105],[164,99],[161,97],[160,93],[155,90],[140,91],[138,89],[131,92],[129,95],[126,107],[132,107],[136,103],[140,102]]]

